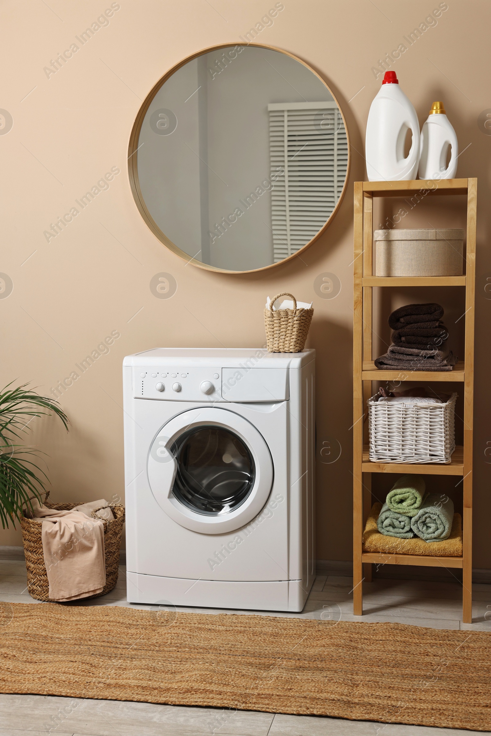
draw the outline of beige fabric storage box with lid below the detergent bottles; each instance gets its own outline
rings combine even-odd
[[[375,230],[375,276],[462,276],[464,230]]]

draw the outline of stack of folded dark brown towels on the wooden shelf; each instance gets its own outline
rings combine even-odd
[[[439,304],[406,304],[389,316],[392,344],[375,360],[380,369],[449,371],[456,357],[445,350],[448,331],[441,322],[443,308]]]

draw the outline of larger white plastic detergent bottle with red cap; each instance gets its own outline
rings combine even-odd
[[[408,130],[411,150],[404,158]],[[365,138],[370,182],[415,179],[420,161],[420,123],[416,110],[399,87],[395,71],[386,71],[381,90],[370,106]]]

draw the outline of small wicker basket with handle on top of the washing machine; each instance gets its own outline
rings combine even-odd
[[[280,297],[292,297],[293,309],[273,311],[273,304]],[[266,339],[269,353],[300,353],[305,347],[313,309],[297,309],[297,300],[288,291],[282,291],[269,302],[264,310]]]

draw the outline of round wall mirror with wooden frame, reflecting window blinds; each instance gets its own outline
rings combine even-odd
[[[138,113],[128,164],[153,233],[202,268],[247,272],[294,258],[336,212],[350,163],[328,85],[286,52],[194,54]]]

